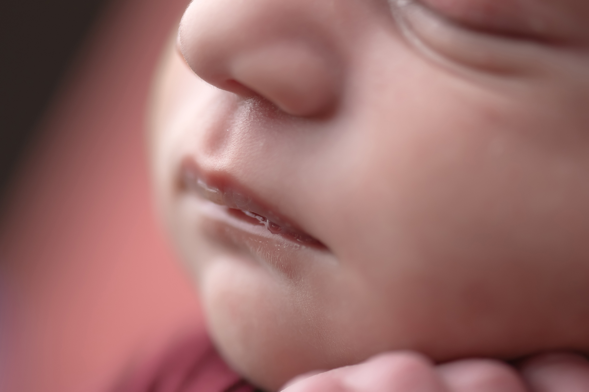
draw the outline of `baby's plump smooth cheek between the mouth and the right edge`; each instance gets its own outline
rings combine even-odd
[[[436,359],[517,357],[567,344],[567,323],[582,337],[570,316],[582,314],[574,309],[587,290],[565,272],[587,271],[580,265],[588,249],[575,234],[588,230],[587,158],[572,142],[575,129],[555,134],[566,119],[540,104],[429,87],[429,111],[407,110],[411,132],[358,144],[366,175],[357,177],[366,180],[342,192],[365,201],[346,225],[363,228],[362,240],[338,235],[346,262],[390,308],[413,304],[406,317],[382,321],[431,326],[404,332]],[[395,114],[397,123],[407,118]]]

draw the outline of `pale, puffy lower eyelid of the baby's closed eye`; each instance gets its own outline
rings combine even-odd
[[[415,0],[389,0],[403,35],[429,58],[446,65],[521,75],[545,71],[545,45],[477,31],[439,15]]]

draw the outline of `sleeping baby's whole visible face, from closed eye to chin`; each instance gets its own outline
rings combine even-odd
[[[589,3],[198,0],[155,184],[230,364],[589,351]],[[213,86],[211,86],[213,85]]]

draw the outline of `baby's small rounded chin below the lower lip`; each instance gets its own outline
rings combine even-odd
[[[210,268],[201,281],[213,341],[230,366],[256,386],[277,390],[309,370],[355,361],[352,353],[330,347],[326,331],[309,323],[293,293],[259,267],[229,260]]]

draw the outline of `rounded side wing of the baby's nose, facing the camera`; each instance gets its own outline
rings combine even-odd
[[[336,104],[339,72],[312,48],[274,44],[237,55],[230,63],[230,74],[239,84],[288,114],[317,115]]]

